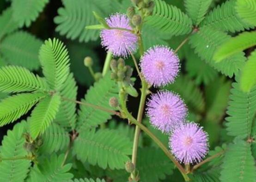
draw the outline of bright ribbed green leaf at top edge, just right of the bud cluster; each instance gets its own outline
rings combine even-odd
[[[168,5],[163,0],[155,0],[153,14],[145,21],[169,35],[184,35],[192,31],[192,20],[176,6]]]

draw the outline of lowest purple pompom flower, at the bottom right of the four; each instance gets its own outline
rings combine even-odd
[[[208,153],[208,135],[196,123],[186,123],[174,130],[169,145],[180,162],[197,163]]]

